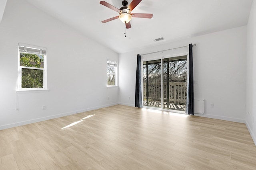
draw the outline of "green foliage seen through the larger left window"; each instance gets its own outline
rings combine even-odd
[[[44,56],[20,53],[20,66],[44,68]],[[44,71],[41,69],[22,68],[22,88],[43,88]]]

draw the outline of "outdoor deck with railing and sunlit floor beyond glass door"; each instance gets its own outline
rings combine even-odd
[[[161,83],[148,84],[148,101],[146,82],[143,85],[143,105],[161,108]],[[187,100],[186,82],[164,82],[163,88],[163,108],[185,111]]]

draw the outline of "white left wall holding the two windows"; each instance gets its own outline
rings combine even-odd
[[[47,48],[49,92],[16,95],[18,43]],[[118,88],[106,87],[107,59],[118,54],[25,0],[8,0],[0,23],[0,129],[117,104]]]

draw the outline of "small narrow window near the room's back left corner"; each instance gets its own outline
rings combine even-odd
[[[107,75],[108,75],[108,84],[107,86],[117,86],[116,84],[116,72],[117,72],[117,63],[115,61],[108,60],[108,68],[107,68]]]

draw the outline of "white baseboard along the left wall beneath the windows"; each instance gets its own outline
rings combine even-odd
[[[41,117],[41,118],[38,118],[38,119],[20,121],[20,122],[11,123],[11,124],[8,124],[8,125],[1,125],[0,130],[12,128],[12,127],[17,127],[17,126],[22,126],[22,125],[27,125],[27,124],[30,124],[30,123],[36,123],[36,122],[40,122],[40,121],[45,121],[45,120],[49,120],[49,119],[54,119],[54,118],[58,118],[58,117],[73,115],[73,114],[76,114],[76,113],[82,113],[82,112],[85,112],[85,111],[101,109],[101,108],[104,108],[104,107],[115,106],[115,105],[118,105],[118,103],[107,104],[107,105],[97,106],[97,107],[91,107],[91,108],[87,108],[87,109],[82,109],[82,110],[77,110],[77,111],[72,111],[72,112],[67,112],[67,113],[61,113],[61,114],[58,114],[58,115]]]

